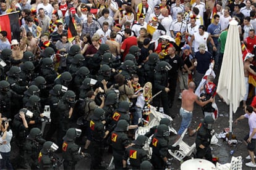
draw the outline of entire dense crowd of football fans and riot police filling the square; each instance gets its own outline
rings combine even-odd
[[[74,169],[77,161],[90,157],[88,147],[92,147],[91,169],[104,169],[100,164],[104,148],[111,146],[116,169],[127,168],[128,158],[135,169],[163,169],[170,165],[167,150],[177,149],[168,145],[169,122],[163,119],[152,133],[151,163],[142,149],[147,139],[139,136],[134,143],[130,139],[150,121],[150,105],[175,117],[170,109],[176,88],[182,100],[176,140],[186,128],[190,136],[195,134],[189,125],[194,102],[198,103],[205,121],[198,129],[197,158],[211,160],[210,150],[205,149],[210,143],[202,139],[212,135],[216,119],[214,77],[209,75],[199,87],[201,97],[194,91],[209,68],[220,71],[231,18],[238,22],[244,54],[246,106],[248,77],[256,76],[254,1],[8,0],[0,4],[0,15],[18,12],[20,21],[20,39],[7,39],[10,33],[0,31],[1,169],[12,169],[12,136],[19,147],[15,168],[53,168],[60,161],[52,161],[52,152],[62,152],[64,169]],[[71,22],[76,33],[70,34]],[[44,115],[48,105],[50,116]],[[75,141],[83,137],[86,141],[79,152]],[[249,166],[255,167],[255,161]]]

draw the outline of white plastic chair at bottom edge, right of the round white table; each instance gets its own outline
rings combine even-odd
[[[242,156],[232,156],[231,163],[216,163],[217,170],[242,170]]]

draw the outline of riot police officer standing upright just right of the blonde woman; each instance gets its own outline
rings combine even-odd
[[[153,105],[155,107],[160,106],[160,102],[163,105],[164,114],[170,115],[169,113],[169,105],[168,105],[168,92],[170,89],[168,88],[168,71],[171,69],[171,66],[168,62],[160,62],[156,66],[156,72],[154,75],[154,89],[153,94],[161,91],[160,95],[156,96],[156,99],[153,100]]]

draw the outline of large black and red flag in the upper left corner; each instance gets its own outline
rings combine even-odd
[[[11,42],[12,39],[17,39],[20,41],[20,23],[18,12],[0,15],[0,31],[7,32],[7,39],[9,42]]]

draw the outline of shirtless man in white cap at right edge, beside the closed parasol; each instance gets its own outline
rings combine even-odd
[[[249,73],[252,73],[252,75],[256,76],[256,73],[252,68],[250,68],[250,63],[254,60],[254,55],[251,53],[247,53],[244,58],[244,81],[245,81],[245,95],[244,99],[242,99],[242,107],[244,108],[246,106],[246,100],[248,97],[248,91],[249,91],[249,83],[248,83],[248,77]]]

